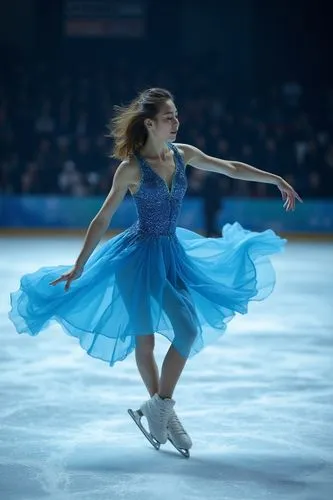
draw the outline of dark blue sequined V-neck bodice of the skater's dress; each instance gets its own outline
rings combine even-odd
[[[140,155],[141,183],[133,195],[138,214],[132,230],[146,235],[174,235],[182,200],[187,189],[185,164],[180,152],[172,143],[168,147],[174,153],[175,171],[170,189]]]

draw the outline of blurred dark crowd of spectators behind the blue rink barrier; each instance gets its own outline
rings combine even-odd
[[[333,196],[333,88],[290,78],[251,93],[226,85],[218,67],[174,64],[8,67],[0,77],[0,193],[105,195],[118,165],[106,127],[113,106],[163,86],[175,95],[179,142],[282,175],[303,197]],[[277,195],[194,168],[188,180],[189,196]]]

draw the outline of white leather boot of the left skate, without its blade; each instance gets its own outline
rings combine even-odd
[[[174,405],[173,399],[162,399],[156,393],[140,407],[140,411],[147,419],[150,434],[161,444],[167,442],[167,425]]]

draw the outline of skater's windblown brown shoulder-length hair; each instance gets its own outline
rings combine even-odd
[[[112,157],[125,160],[138,152],[148,138],[144,124],[155,118],[162,104],[172,99],[165,89],[151,88],[141,92],[128,106],[115,106],[115,116],[109,124],[110,137],[114,139]]]

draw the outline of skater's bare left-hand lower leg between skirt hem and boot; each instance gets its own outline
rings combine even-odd
[[[155,336],[136,337],[135,359],[141,378],[150,396],[159,391],[158,367],[154,357]]]

